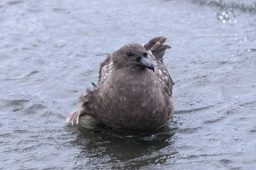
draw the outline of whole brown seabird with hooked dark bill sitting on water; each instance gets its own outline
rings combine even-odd
[[[99,66],[99,81],[79,96],[66,123],[90,116],[113,129],[156,130],[175,111],[175,98],[163,55],[167,37],[146,44],[131,43],[109,54]]]

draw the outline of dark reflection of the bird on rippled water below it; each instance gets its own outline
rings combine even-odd
[[[177,153],[175,138],[172,138],[178,128],[177,122],[170,121],[165,127],[151,132],[134,132],[113,130],[89,117],[84,120],[79,125],[67,126],[69,132],[76,133],[71,144],[81,148],[77,161],[83,166],[100,164],[108,168],[137,169],[163,164]]]

